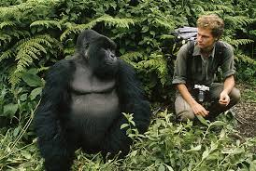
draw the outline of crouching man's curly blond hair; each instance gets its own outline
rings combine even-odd
[[[210,29],[212,36],[220,39],[224,31],[224,21],[215,14],[203,15],[196,22],[198,28]]]

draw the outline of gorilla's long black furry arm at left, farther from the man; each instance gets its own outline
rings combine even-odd
[[[52,156],[68,155],[62,151],[64,147],[64,129],[61,119],[67,111],[69,102],[68,83],[72,75],[72,68],[68,60],[61,60],[50,68],[46,78],[40,104],[36,110],[35,127],[38,136],[39,149],[47,159]],[[64,162],[64,161],[63,161]]]

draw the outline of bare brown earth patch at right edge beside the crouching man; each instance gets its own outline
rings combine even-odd
[[[241,100],[232,111],[237,120],[236,129],[242,137],[256,136],[256,85],[238,84],[236,87],[241,92]]]

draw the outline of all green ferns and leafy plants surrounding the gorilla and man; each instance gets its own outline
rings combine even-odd
[[[174,30],[195,26],[198,16],[208,13],[225,21],[222,40],[234,46],[236,80],[247,83],[246,98],[256,102],[254,1],[2,0],[0,170],[42,170],[33,116],[45,73],[73,54],[78,33],[93,29],[111,37],[121,59],[135,67],[154,118],[146,135],[131,131],[135,144],[125,159],[104,163],[100,154],[77,151],[73,170],[255,171],[256,139],[241,138],[232,112],[214,123],[174,122],[171,80],[181,46]]]

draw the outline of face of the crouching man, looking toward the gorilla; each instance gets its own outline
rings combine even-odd
[[[213,46],[215,38],[211,34],[210,29],[197,28],[197,46],[207,49]]]

